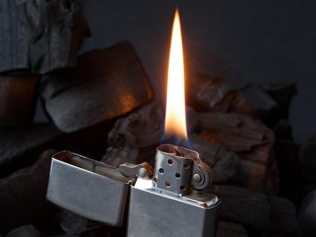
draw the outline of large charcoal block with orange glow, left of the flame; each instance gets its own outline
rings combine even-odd
[[[48,114],[66,133],[125,114],[154,94],[127,41],[80,55],[75,69],[51,74],[40,93]]]

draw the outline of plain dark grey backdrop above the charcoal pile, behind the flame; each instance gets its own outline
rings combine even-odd
[[[128,39],[155,88],[165,98],[171,28],[178,5],[184,45],[213,50],[254,84],[295,82],[293,136],[316,132],[316,2],[80,0],[92,32],[80,53]],[[41,120],[37,112],[36,120]]]

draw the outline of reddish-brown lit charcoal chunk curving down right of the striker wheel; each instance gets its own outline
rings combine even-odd
[[[203,112],[199,118],[202,138],[239,156],[240,186],[264,193],[278,191],[277,164],[272,155],[275,138],[270,129],[244,114]]]

